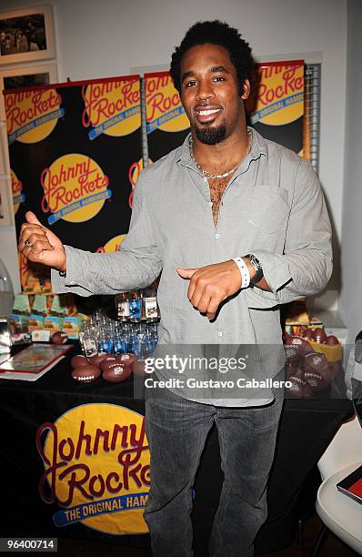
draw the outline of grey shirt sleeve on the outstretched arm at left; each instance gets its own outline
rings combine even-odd
[[[146,288],[162,269],[161,248],[146,203],[146,172],[138,178],[129,231],[118,251],[91,253],[65,246],[66,277],[52,269],[53,291],[81,296]]]

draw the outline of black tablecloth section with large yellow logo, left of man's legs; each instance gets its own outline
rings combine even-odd
[[[11,528],[94,539],[145,534],[150,453],[144,402],[133,400],[132,383],[123,398],[119,384],[117,397],[106,384],[89,394],[83,385],[72,389],[69,369],[67,361],[52,370],[53,378],[46,376],[47,387],[43,381],[40,390],[31,384],[2,398],[3,500]]]

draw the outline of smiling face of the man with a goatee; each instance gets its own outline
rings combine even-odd
[[[236,68],[224,46],[197,45],[181,60],[181,100],[196,137],[216,145],[245,126],[243,99],[249,95],[246,80],[239,95]]]

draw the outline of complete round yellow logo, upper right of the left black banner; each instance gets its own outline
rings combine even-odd
[[[82,123],[88,136],[127,136],[141,126],[139,78],[121,77],[82,87],[85,102]]]

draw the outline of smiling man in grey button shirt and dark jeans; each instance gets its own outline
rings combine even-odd
[[[331,231],[307,161],[246,127],[252,72],[250,48],[236,29],[214,21],[188,30],[171,75],[191,135],[141,174],[120,251],[64,247],[27,215],[19,248],[53,268],[56,292],[116,294],[146,287],[162,270],[161,348],[281,346],[278,305],[326,286]],[[279,350],[258,361],[273,377],[284,360]],[[157,376],[166,379],[168,371]],[[281,406],[271,391],[259,398],[218,392],[209,400],[182,388],[146,390],[152,485],[145,518],[157,557],[193,554],[191,490],[213,423],[225,481],[210,554],[253,554],[266,520]]]

